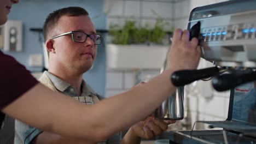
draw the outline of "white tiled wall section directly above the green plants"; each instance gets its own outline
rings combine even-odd
[[[173,2],[172,1],[134,1],[134,0],[113,0],[110,4],[109,12],[107,14],[108,29],[110,23],[117,23],[123,26],[123,21],[114,20],[129,19],[135,17],[138,23],[144,26],[146,21],[149,21],[151,26],[154,26],[155,20],[158,17],[173,23]],[[171,29],[172,26],[165,27],[165,29]]]

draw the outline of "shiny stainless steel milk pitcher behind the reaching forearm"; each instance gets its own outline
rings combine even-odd
[[[164,71],[166,61],[161,68]],[[178,87],[170,97],[162,102],[158,109],[154,112],[154,117],[158,119],[183,119],[184,117],[184,87]]]

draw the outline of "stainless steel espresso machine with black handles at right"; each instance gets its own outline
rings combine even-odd
[[[212,78],[217,91],[231,91],[226,121],[201,121],[221,130],[170,131],[170,143],[256,143],[256,1],[235,0],[191,11],[188,29],[200,40],[202,58],[216,67],[176,71],[181,87]]]

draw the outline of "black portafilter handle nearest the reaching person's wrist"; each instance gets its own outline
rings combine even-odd
[[[171,75],[171,81],[174,86],[181,87],[187,85],[191,82],[206,79],[208,77],[214,76],[219,74],[219,68],[211,67],[206,69],[199,69],[199,70],[179,70],[175,71]]]

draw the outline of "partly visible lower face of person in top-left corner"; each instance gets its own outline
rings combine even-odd
[[[10,13],[11,5],[18,3],[18,0],[1,0],[0,1],[0,26],[7,21],[7,15]]]

